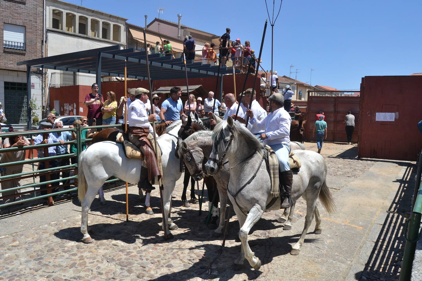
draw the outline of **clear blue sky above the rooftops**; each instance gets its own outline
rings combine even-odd
[[[81,5],[81,1],[68,1]],[[276,0],[276,11],[280,4]],[[101,3],[99,5],[99,3]],[[127,18],[144,26],[158,16],[216,35],[231,28],[230,36],[251,42],[259,53],[265,19],[265,0],[229,1],[219,13],[215,1],[83,0],[87,8]],[[267,0],[270,16],[272,1]],[[236,8],[234,10],[234,8]],[[422,1],[406,0],[284,0],[274,25],[273,69],[315,85],[342,90],[360,88],[361,78],[371,75],[409,75],[422,72]],[[239,16],[238,16],[239,15]],[[262,66],[271,69],[271,25],[268,24]],[[295,78],[295,73],[292,73]]]

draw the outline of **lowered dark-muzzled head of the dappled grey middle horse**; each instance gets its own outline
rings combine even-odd
[[[204,154],[200,147],[190,147],[186,142],[181,142],[179,147],[179,155],[186,164],[189,173],[193,179],[201,180],[204,177],[202,165],[204,161]]]

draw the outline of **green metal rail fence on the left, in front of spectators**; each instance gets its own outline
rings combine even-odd
[[[6,206],[10,206],[10,205],[15,205],[15,204],[20,204],[20,203],[24,203],[24,202],[28,202],[28,201],[34,201],[34,200],[38,200],[40,198],[48,198],[50,196],[54,196],[54,195],[59,195],[59,194],[63,194],[63,193],[70,193],[73,191],[78,190],[78,186],[77,186],[77,181],[76,179],[78,178],[78,173],[77,173],[77,169],[78,169],[78,163],[75,164],[70,164],[70,165],[65,165],[65,166],[60,166],[60,167],[52,167],[49,168],[49,161],[52,160],[57,160],[57,159],[62,159],[62,158],[78,158],[78,156],[81,154],[82,152],[82,144],[85,142],[89,142],[92,139],[81,139],[81,131],[84,129],[91,129],[91,128],[110,128],[110,127],[121,127],[122,124],[116,124],[116,125],[103,125],[103,126],[90,126],[90,127],[82,127],[82,126],[78,126],[75,128],[65,128],[65,129],[51,129],[51,130],[47,130],[48,133],[53,133],[53,132],[62,132],[62,131],[70,131],[70,132],[75,132],[76,134],[76,140],[73,141],[69,141],[69,142],[65,142],[63,145],[70,145],[70,144],[76,144],[76,148],[77,148],[77,152],[76,153],[68,153],[68,154],[64,154],[64,155],[57,155],[57,156],[48,156],[48,157],[43,157],[43,158],[38,158],[38,155],[34,156],[33,150],[34,149],[44,149],[45,147],[52,147],[52,146],[57,146],[57,145],[62,145],[60,144],[60,142],[55,142],[52,144],[40,144],[40,145],[32,145],[32,142],[30,145],[24,146],[24,147],[8,147],[8,148],[2,148],[0,149],[0,153],[6,153],[6,152],[14,152],[14,151],[19,151],[19,150],[30,150],[31,151],[31,158],[30,159],[26,159],[23,161],[15,161],[15,162],[8,162],[8,163],[0,163],[0,168],[5,168],[7,169],[10,166],[14,166],[14,165],[24,165],[24,164],[32,164],[32,171],[27,171],[27,172],[22,172],[19,174],[10,174],[10,175],[2,175],[0,176],[0,183],[6,182],[6,181],[11,181],[11,180],[22,180],[22,179],[28,179],[28,178],[32,178],[32,183],[30,184],[26,184],[26,185],[22,185],[19,187],[12,187],[12,188],[8,188],[8,189],[3,189],[0,190],[0,199],[3,199],[0,202],[4,202],[5,200],[7,200],[8,198],[14,198],[18,195],[22,196],[22,195],[31,195],[30,198],[25,198],[19,201],[14,201],[14,202],[9,202],[9,203],[5,203],[2,204],[0,206],[2,207],[6,207]],[[14,137],[14,136],[27,136],[28,139],[32,140],[32,136],[36,136],[38,134],[42,134],[42,133],[46,133],[46,131],[44,130],[36,130],[36,131],[20,131],[20,132],[14,132],[14,133],[6,133],[6,134],[1,134],[0,136],[5,139],[8,137]],[[37,162],[45,162],[45,169],[41,169],[41,170],[37,170],[35,169],[35,163]],[[48,164],[48,165],[47,165]],[[74,171],[74,175],[73,176],[69,176],[69,177],[64,177],[64,178],[58,178],[58,179],[53,179],[53,180],[48,180],[49,176],[51,174],[57,174],[63,171]],[[60,174],[59,174],[60,175]],[[40,181],[36,181],[36,179],[40,176],[46,176],[46,181],[40,182]],[[70,180],[73,179],[74,182],[70,183]],[[64,182],[68,180],[69,183],[65,184],[65,185],[60,185],[60,182]],[[120,181],[119,179],[111,179],[106,181],[106,183],[108,182],[118,182]],[[46,185],[46,188],[40,189],[39,187],[41,185]],[[51,187],[49,187],[48,185],[51,185]],[[48,193],[46,195],[41,195],[40,191],[42,190],[47,190],[47,192],[50,192],[52,189],[57,188],[57,187],[65,187],[65,186],[70,186],[70,185],[74,185],[74,187],[67,189],[67,190],[62,190],[62,191],[57,191],[54,193]],[[28,187],[32,187],[32,190],[26,190],[26,191],[22,191],[24,189],[27,189]],[[10,191],[15,191],[15,190],[20,190],[19,193],[14,193],[12,195],[7,195],[7,196],[3,196],[3,193],[5,192],[10,192]],[[51,198],[50,198],[51,199]]]

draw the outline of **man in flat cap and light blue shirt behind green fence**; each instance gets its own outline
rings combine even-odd
[[[51,124],[49,122],[41,122],[41,130],[42,131],[40,134],[38,134],[35,137],[34,140],[34,145],[40,145],[40,144],[54,144],[57,141],[57,137],[54,136],[54,134],[49,133],[48,130],[51,129]],[[62,141],[60,141],[60,143],[62,143]],[[50,146],[48,147],[48,155],[44,155],[44,147],[39,148],[38,149],[38,158],[44,158],[44,157],[51,157],[51,156],[56,156],[57,155],[57,151],[56,151],[56,147],[55,146]],[[49,168],[55,168],[57,167],[57,160],[49,160],[49,167],[46,166],[46,162],[47,161],[40,161],[40,164],[38,166],[38,170],[43,170],[43,169],[49,169]],[[53,173],[50,174],[50,180],[54,180],[54,179],[59,179],[59,173]],[[40,183],[41,182],[45,182],[46,181],[46,176],[40,176]],[[57,186],[59,185],[58,182],[54,182],[51,184],[53,187],[52,188],[52,192],[57,192]],[[46,188],[46,185],[40,185],[41,189]],[[47,194],[47,190],[41,190],[41,195],[46,195]]]

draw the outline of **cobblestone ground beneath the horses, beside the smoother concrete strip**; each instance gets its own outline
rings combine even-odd
[[[317,150],[315,143],[305,145],[310,150]],[[376,163],[357,159],[356,151],[356,145],[324,144],[322,155],[328,166],[327,183],[333,193],[359,178]],[[22,217],[19,223],[23,228],[17,233],[10,232],[0,237],[3,260],[0,280],[269,280],[274,277],[299,280],[282,275],[283,268],[294,265],[273,260],[288,255],[291,249],[289,244],[297,241],[303,220],[298,225],[295,222],[306,214],[306,203],[297,202],[293,228],[289,231],[283,231],[282,224],[277,222],[281,211],[265,212],[248,238],[252,251],[261,258],[261,269],[253,270],[245,261],[242,270],[234,271],[233,260],[238,257],[241,245],[237,238],[239,226],[235,215],[230,219],[224,252],[215,260],[222,238],[214,238],[212,230],[204,225],[206,212],[198,216],[199,205],[191,204],[189,208],[181,206],[182,179],[183,176],[173,194],[172,210],[172,219],[179,229],[172,231],[174,239],[170,241],[163,239],[157,190],[151,196],[151,207],[155,214],[147,215],[144,214],[143,201],[138,198],[137,187],[129,187],[129,222],[126,222],[124,188],[106,191],[106,206],[100,206],[95,199],[88,215],[88,225],[94,239],[92,244],[81,242],[80,204],[77,199],[43,208],[53,212],[55,208],[68,206],[69,212],[54,221],[38,225],[32,219],[36,218],[40,209],[25,213],[23,210],[30,208],[27,205],[20,207],[22,210],[18,213],[15,209],[12,215]],[[207,206],[207,203],[203,204],[203,208],[208,209]],[[3,217],[10,216],[7,210],[3,210]],[[24,219],[31,220],[31,223]],[[32,226],[25,227],[25,224]],[[322,235],[308,232],[303,248],[319,251],[319,243],[325,242],[317,237]],[[311,246],[314,242],[315,246]],[[301,254],[296,257],[306,256]],[[309,266],[315,267],[318,262],[323,261],[315,260]],[[317,276],[309,274],[301,277],[303,280],[317,279]]]

